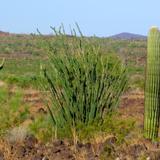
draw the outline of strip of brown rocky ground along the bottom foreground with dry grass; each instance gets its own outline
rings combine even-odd
[[[116,145],[116,138],[110,137],[98,144],[97,152],[94,144],[56,140],[49,144],[38,142],[28,136],[23,143],[0,142],[0,160],[140,160],[160,159],[160,147],[147,140],[130,145]]]

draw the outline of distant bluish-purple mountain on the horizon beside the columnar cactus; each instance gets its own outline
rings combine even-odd
[[[110,36],[108,38],[113,38],[113,39],[124,39],[124,40],[145,40],[147,39],[147,36],[144,35],[140,35],[140,34],[133,34],[133,33],[127,33],[127,32],[123,32],[123,33],[119,33],[113,36]]]

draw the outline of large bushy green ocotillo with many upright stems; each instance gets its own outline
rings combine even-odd
[[[117,107],[127,82],[121,61],[75,32],[70,37],[56,32],[48,53],[41,84],[50,91],[48,109],[56,130],[102,123],[106,113]]]

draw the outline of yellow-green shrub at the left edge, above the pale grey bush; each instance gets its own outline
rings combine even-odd
[[[22,105],[22,100],[21,91],[17,90],[10,95],[7,87],[0,89],[0,136],[28,119],[28,106]]]

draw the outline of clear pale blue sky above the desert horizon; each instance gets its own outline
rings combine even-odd
[[[160,0],[0,0],[0,30],[51,33],[50,26],[77,22],[85,35],[146,35],[160,26]]]

